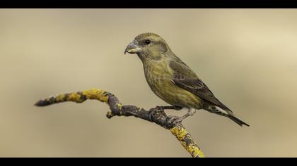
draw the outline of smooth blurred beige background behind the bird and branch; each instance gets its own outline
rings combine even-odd
[[[207,157],[297,157],[293,9],[1,9],[0,156],[190,157],[157,125],[108,120],[98,101],[33,106],[92,87],[124,104],[166,105],[149,89],[141,61],[124,56],[142,32],[165,38],[251,125],[206,111],[189,117],[185,126]]]

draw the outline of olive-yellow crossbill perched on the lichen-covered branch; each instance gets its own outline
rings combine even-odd
[[[250,126],[221,103],[158,34],[146,32],[137,35],[124,50],[126,53],[136,54],[140,58],[148,86],[156,96],[170,104],[168,109],[188,110],[178,118],[179,121],[202,109],[228,117],[240,126]]]

